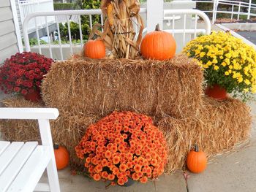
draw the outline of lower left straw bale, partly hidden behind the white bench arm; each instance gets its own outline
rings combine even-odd
[[[26,101],[22,96],[4,99],[5,107],[45,107],[42,103]],[[95,115],[76,115],[70,112],[59,111],[59,118],[50,120],[50,128],[54,143],[67,147],[70,155],[70,165],[79,166],[80,159],[75,153],[75,146],[83,137],[86,128],[99,120]],[[4,139],[10,141],[40,141],[37,120],[1,120],[0,131]]]

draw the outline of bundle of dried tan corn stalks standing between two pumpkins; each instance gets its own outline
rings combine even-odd
[[[138,15],[138,0],[102,0],[101,6],[105,16],[104,32],[100,24],[94,25],[89,38],[97,34],[110,50],[110,58],[135,58],[139,54],[142,39],[143,20]],[[135,28],[140,28],[136,36]]]

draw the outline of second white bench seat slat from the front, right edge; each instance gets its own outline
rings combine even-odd
[[[25,145],[19,150],[18,154],[10,162],[9,166],[4,169],[0,175],[0,191],[6,191],[8,186],[15,179],[20,169],[28,160],[31,153],[37,147],[38,142],[26,142]]]

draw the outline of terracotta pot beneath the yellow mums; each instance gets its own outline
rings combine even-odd
[[[227,99],[227,91],[219,85],[207,85],[205,93],[207,96],[211,96],[214,99]]]

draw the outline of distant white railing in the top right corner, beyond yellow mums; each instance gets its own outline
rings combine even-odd
[[[236,16],[237,20],[241,18],[241,15],[246,15],[247,19],[251,18],[252,16],[256,17],[256,13],[252,12],[252,10],[256,10],[256,4],[252,4],[250,0],[249,2],[227,0],[200,0],[196,2],[213,4],[212,10],[203,10],[203,12],[211,12],[213,14],[212,23],[215,23],[218,13],[229,14],[231,19],[234,19]],[[226,10],[219,9],[219,7],[223,5],[226,6]]]

